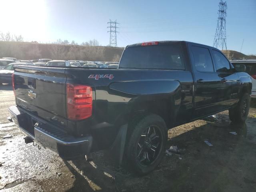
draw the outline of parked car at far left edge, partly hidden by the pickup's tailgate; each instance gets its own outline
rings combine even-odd
[[[14,72],[13,66],[14,65],[33,65],[33,63],[26,63],[26,62],[13,62],[5,66],[4,69],[0,70],[0,85],[3,83],[11,84],[12,83],[12,74]]]

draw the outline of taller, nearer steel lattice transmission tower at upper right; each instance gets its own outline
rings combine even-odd
[[[220,50],[227,50],[227,38],[226,38],[226,16],[227,16],[227,3],[220,0],[218,10],[218,23],[215,32],[213,46]]]

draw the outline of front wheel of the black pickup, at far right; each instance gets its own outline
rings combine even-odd
[[[245,93],[235,108],[229,109],[228,114],[232,122],[244,123],[250,109],[250,95]]]

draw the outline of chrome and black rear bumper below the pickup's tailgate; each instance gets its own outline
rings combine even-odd
[[[75,138],[45,120],[17,106],[9,107],[10,118],[18,128],[34,142],[72,160],[90,153],[92,136]]]

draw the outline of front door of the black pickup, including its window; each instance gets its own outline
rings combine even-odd
[[[213,58],[216,64],[216,72],[220,77],[220,107],[222,110],[229,108],[238,102],[238,92],[240,89],[240,78],[232,65],[222,52],[212,49]]]

